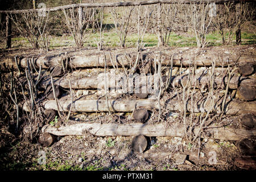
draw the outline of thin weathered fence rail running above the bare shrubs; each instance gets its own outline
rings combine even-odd
[[[234,2],[238,3],[241,2],[241,0],[176,0],[176,1],[170,1],[170,0],[150,0],[150,1],[139,1],[139,2],[108,2],[108,3],[77,3],[72,5],[65,5],[65,6],[57,6],[57,7],[50,7],[44,9],[44,11],[59,11],[63,9],[71,9],[71,8],[77,8],[77,7],[122,7],[122,6],[139,6],[139,5],[154,5],[157,3],[168,3],[168,4],[190,4],[190,3],[200,3],[200,2],[214,2],[216,4],[223,4],[225,2]],[[243,2],[255,2],[255,0],[243,0]],[[42,11],[42,9],[30,9],[30,10],[10,10],[10,11],[3,11],[1,10],[0,13],[3,14],[21,14],[21,13],[38,13],[39,11]]]

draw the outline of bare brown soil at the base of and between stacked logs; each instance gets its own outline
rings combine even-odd
[[[76,49],[68,49],[70,52]],[[55,50],[51,53],[59,53],[64,50]],[[93,52],[93,49],[91,50]],[[10,51],[2,54],[3,57],[28,53],[30,50]],[[40,51],[32,54],[40,55]],[[88,72],[76,71],[71,76],[97,75],[93,69]],[[103,69],[101,69],[103,72]],[[14,73],[15,75],[16,73]],[[198,143],[189,143],[185,138],[179,137],[146,137],[146,150],[139,154],[132,150],[133,137],[97,137],[89,132],[82,136],[55,136],[55,142],[49,147],[43,147],[38,139],[43,125],[47,124],[44,117],[29,122],[28,115],[21,111],[22,120],[20,129],[15,130],[16,107],[11,104],[8,94],[10,92],[10,73],[1,71],[1,119],[0,119],[0,170],[161,170],[161,171],[216,171],[216,170],[243,170],[250,169],[237,164],[236,158],[241,156],[236,141],[214,140],[201,138]],[[85,91],[85,90],[82,90]],[[75,97],[83,97],[79,90],[74,91]],[[18,99],[22,100],[22,90],[18,90]],[[78,93],[80,92],[80,94]],[[94,93],[96,90],[89,90]],[[67,93],[66,93],[67,94]],[[170,93],[171,94],[171,93]],[[64,94],[65,95],[65,94]],[[94,94],[88,98],[98,97]],[[39,98],[45,97],[39,94]],[[134,96],[127,96],[134,97]],[[164,97],[164,96],[163,96]],[[170,97],[168,94],[166,97]],[[42,110],[43,111],[43,110]],[[154,123],[156,111],[152,111],[149,123]],[[174,113],[175,114],[175,113]],[[179,115],[178,115],[179,117]],[[213,117],[211,115],[210,117]],[[172,122],[173,114],[164,122]],[[66,123],[54,123],[54,125],[68,125],[77,122],[118,122],[131,121],[131,113],[72,113]],[[236,127],[236,117],[224,119]],[[27,122],[28,121],[28,122]],[[216,119],[216,123],[219,121]],[[24,131],[25,126],[34,127],[33,133]],[[200,148],[200,150],[199,150]],[[184,154],[184,155],[182,155]],[[184,158],[179,162],[178,158]]]

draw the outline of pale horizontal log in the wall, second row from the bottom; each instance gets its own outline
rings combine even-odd
[[[195,113],[201,113],[202,111],[208,111],[210,109],[209,102],[197,104],[193,106]],[[60,111],[69,111],[71,106],[71,98],[67,100],[59,100]],[[108,107],[109,105],[109,107]],[[158,101],[156,100],[109,100],[107,104],[106,100],[76,100],[73,101],[73,107],[71,111],[79,112],[101,112],[101,111],[119,111],[119,112],[132,112],[135,105],[139,109],[152,110],[154,108],[158,109]],[[170,101],[160,101],[165,109],[170,111],[180,111],[181,107],[178,100]],[[57,110],[56,102],[54,100],[48,100],[43,103],[45,109]],[[187,110],[191,111],[192,106],[187,106]],[[220,106],[215,110],[217,113],[221,113]],[[246,113],[256,113],[256,102],[230,102],[225,106],[225,114],[246,114]]]

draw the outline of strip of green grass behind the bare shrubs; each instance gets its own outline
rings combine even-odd
[[[84,47],[94,47],[97,48],[96,40],[100,40],[100,34],[89,33],[92,30],[88,30],[88,34],[85,38]],[[103,46],[109,48],[120,47],[119,39],[114,29],[103,32]],[[242,32],[241,34],[242,44],[255,44],[256,43],[256,35],[249,32]],[[128,34],[126,37],[126,47],[136,47],[137,46],[137,33]],[[208,44],[207,46],[221,46],[222,39],[221,35],[216,32],[210,32],[206,38]],[[30,43],[26,38],[22,36],[18,36],[12,39],[12,44],[14,48],[30,48]],[[145,47],[153,47],[158,45],[158,38],[155,34],[146,33],[144,35],[143,43]],[[236,43],[236,35],[232,38],[232,43],[230,45],[234,45]],[[63,48],[63,47],[75,47],[75,40],[71,35],[69,36],[51,36],[49,48]],[[171,32],[168,46],[170,47],[196,47],[196,38],[193,36],[193,32],[188,32],[187,34],[180,35],[174,32]],[[2,42],[0,45],[1,48],[5,47],[5,42]]]

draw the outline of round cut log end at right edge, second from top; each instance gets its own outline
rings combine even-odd
[[[256,89],[252,86],[242,85],[237,89],[236,97],[243,101],[252,101],[256,97]]]

